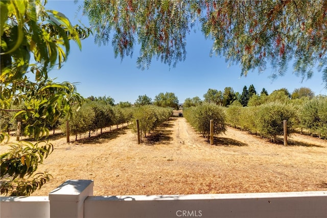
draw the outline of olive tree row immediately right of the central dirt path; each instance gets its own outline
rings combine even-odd
[[[224,110],[214,103],[202,103],[196,107],[184,108],[183,116],[203,137],[210,135],[211,119],[214,122],[214,134],[226,131]]]

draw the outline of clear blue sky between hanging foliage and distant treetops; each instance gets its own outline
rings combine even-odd
[[[46,9],[57,10],[65,14],[73,25],[82,23],[88,27],[85,17],[81,13],[76,17],[78,6],[74,1],[50,0]],[[186,60],[180,62],[175,68],[169,67],[160,61],[152,60],[149,69],[141,70],[136,67],[136,58],[139,50],[135,49],[133,57],[114,58],[113,48],[109,45],[98,46],[93,36],[82,40],[82,51],[75,43],[71,44],[71,52],[67,61],[60,70],[50,71],[51,78],[55,81],[77,82],[78,92],[87,98],[93,96],[111,96],[115,103],[134,103],[138,95],[146,94],[152,100],[160,92],[174,92],[179,103],[186,98],[199,96],[209,88],[223,91],[225,87],[232,87],[235,91],[242,92],[243,87],[254,85],[257,92],[265,88],[268,93],[279,88],[287,88],[292,92],[295,88],[309,87],[315,94],[327,94],[321,79],[321,72],[315,71],[312,79],[303,81],[292,74],[292,67],[286,76],[271,80],[269,76],[272,69],[268,66],[265,72],[250,71],[247,77],[240,77],[241,67],[225,62],[224,57],[209,57],[212,41],[205,40],[199,27],[196,33],[191,31],[187,38]]]

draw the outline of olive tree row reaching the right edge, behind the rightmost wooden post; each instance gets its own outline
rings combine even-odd
[[[226,108],[227,123],[235,128],[270,137],[275,141],[283,135],[283,120],[287,120],[287,132],[306,129],[327,137],[327,98],[315,98],[302,102],[270,102],[259,106],[242,107],[232,104]]]

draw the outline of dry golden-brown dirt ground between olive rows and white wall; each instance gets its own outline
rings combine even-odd
[[[227,128],[210,146],[183,117],[142,144],[126,127],[104,132],[71,144],[51,136],[55,150],[39,171],[53,179],[33,196],[68,179],[94,180],[95,196],[327,190],[326,140],[294,134],[284,147]]]

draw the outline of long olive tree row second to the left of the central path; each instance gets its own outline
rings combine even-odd
[[[100,129],[100,133],[104,128],[130,122],[133,114],[132,108],[121,108],[119,106],[111,106],[97,101],[86,102],[76,113],[69,118],[69,134],[78,135]],[[65,119],[61,120],[60,129],[66,133]]]

